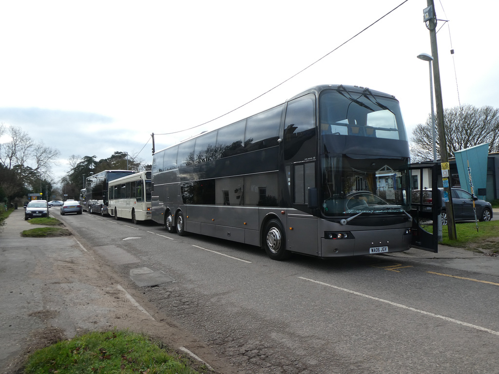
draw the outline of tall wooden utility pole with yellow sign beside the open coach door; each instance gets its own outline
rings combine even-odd
[[[447,212],[447,228],[449,230],[449,239],[456,240],[456,222],[454,221],[454,207],[452,205],[452,176],[448,169],[449,157],[447,155],[447,141],[444,131],[444,104],[442,101],[442,84],[440,82],[440,67],[438,62],[438,47],[437,47],[437,16],[435,14],[435,5],[433,0],[427,0],[428,7],[424,11],[424,20],[426,27],[430,30],[430,44],[433,57],[433,81],[435,82],[435,102],[437,106],[437,125],[440,144],[440,161],[442,162],[442,170],[447,170],[448,177],[442,175],[444,183],[444,192],[447,192],[449,201],[446,201],[445,207]],[[446,167],[444,167],[444,165]]]

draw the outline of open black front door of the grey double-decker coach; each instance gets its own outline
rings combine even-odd
[[[437,253],[438,222],[442,211],[442,199],[439,193],[433,194],[432,198],[432,193],[427,188],[423,188],[423,175],[431,175],[431,190],[438,191],[440,165],[436,163],[411,164],[409,170],[419,170],[419,188],[413,189],[411,193],[411,216],[413,218],[411,247]],[[433,222],[433,233],[421,226],[423,221],[430,219]]]

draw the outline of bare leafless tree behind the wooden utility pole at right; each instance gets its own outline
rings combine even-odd
[[[435,124],[435,127],[437,158],[440,158],[438,125]],[[499,152],[499,109],[497,108],[463,105],[445,109],[444,129],[449,157],[454,157],[456,151],[484,143],[489,143],[489,152]],[[411,140],[413,162],[433,159],[431,115],[424,125],[416,126]]]

